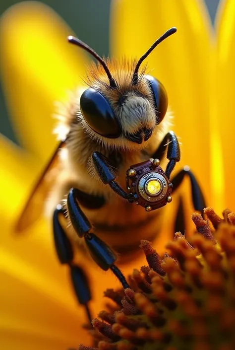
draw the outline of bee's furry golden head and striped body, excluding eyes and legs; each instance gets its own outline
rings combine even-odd
[[[85,215],[93,224],[93,232],[116,251],[123,253],[135,245],[140,239],[153,238],[159,227],[162,209],[147,213],[143,208],[126,203],[118,197],[109,186],[104,185],[98,177],[92,153],[101,152],[114,161],[117,170],[117,182],[125,189],[125,172],[131,164],[143,162],[154,154],[161,140],[169,131],[171,113],[167,112],[163,121],[156,125],[151,89],[144,79],[146,68],[139,73],[138,83],[133,86],[131,79],[136,61],[108,61],[109,69],[117,82],[117,88],[111,89],[109,79],[103,68],[92,64],[88,70],[88,86],[98,90],[109,101],[115,116],[122,128],[122,135],[117,139],[109,139],[95,133],[84,120],[79,101],[81,89],[75,91],[64,107],[59,106],[59,124],[56,133],[67,134],[64,149],[61,150],[58,176],[46,205],[47,215],[66,197],[71,187],[76,187],[86,194],[103,196],[106,204],[98,210],[89,210],[81,206]],[[125,95],[123,104],[118,103]],[[138,130],[153,129],[147,141],[137,144],[125,138],[125,134],[134,134]],[[121,161],[117,161],[117,157]],[[157,223],[158,222],[158,223]],[[157,224],[156,224],[157,223]],[[72,228],[69,235],[82,241]]]

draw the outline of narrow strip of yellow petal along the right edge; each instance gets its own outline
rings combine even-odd
[[[235,1],[221,1],[217,18],[217,86],[215,104],[218,110],[225,171],[225,204],[235,210]],[[218,167],[217,172],[221,169]]]

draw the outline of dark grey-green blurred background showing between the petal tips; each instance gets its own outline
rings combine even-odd
[[[128,0],[126,0],[128,1]],[[164,0],[163,0],[164,1]],[[190,1],[190,0],[188,0]],[[214,21],[219,0],[205,0]],[[18,0],[0,0],[0,15]],[[109,53],[109,11],[111,0],[42,0],[53,7],[79,38],[100,55]],[[1,86],[0,86],[1,89]],[[17,143],[0,90],[0,133]]]

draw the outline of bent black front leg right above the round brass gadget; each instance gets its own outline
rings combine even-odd
[[[167,159],[169,159],[170,161],[167,165],[165,174],[168,178],[170,178],[171,173],[176,166],[176,162],[180,160],[179,143],[178,143],[176,134],[173,131],[170,131],[164,137],[158,149],[154,153],[153,158],[157,158],[161,160],[165,154],[166,149],[167,149]]]

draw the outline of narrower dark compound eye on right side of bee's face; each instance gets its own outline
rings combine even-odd
[[[167,91],[163,86],[163,84],[159,80],[155,79],[153,76],[145,75],[145,78],[147,79],[149,86],[152,90],[152,94],[155,102],[155,108],[157,110],[156,120],[157,120],[157,124],[160,124],[167,113],[167,108],[168,108]]]

